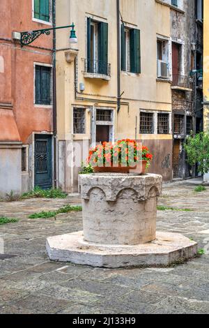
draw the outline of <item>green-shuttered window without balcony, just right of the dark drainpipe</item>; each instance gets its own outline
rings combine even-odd
[[[121,70],[141,73],[141,46],[139,29],[121,25]]]

